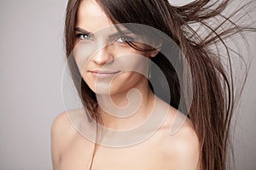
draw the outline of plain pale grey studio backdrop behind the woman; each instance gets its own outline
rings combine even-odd
[[[52,169],[50,127],[55,116],[65,110],[61,78],[66,4],[67,0],[0,2],[0,170]],[[255,14],[252,17],[255,19]],[[252,58],[255,39],[254,35],[249,41]],[[255,71],[253,59],[236,113],[239,170],[256,169]]]

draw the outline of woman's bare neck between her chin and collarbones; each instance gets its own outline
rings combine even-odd
[[[114,95],[97,95],[98,112],[105,127],[125,130],[143,123],[151,114],[154,94],[148,87]]]

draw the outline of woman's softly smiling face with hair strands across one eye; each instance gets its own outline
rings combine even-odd
[[[141,52],[131,48],[125,40],[140,48],[148,46],[135,42],[141,37],[124,26],[119,28],[122,37],[96,1],[82,1],[77,15],[73,56],[84,81],[96,94],[119,94],[148,86],[147,77],[143,75],[148,75],[148,61],[156,55],[156,50]]]

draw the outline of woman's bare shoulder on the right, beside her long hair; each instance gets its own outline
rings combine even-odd
[[[162,129],[160,140],[160,147],[166,160],[169,160],[172,169],[199,169],[200,144],[192,122],[188,118],[183,119],[181,126],[174,131],[175,133],[171,133],[175,116],[171,117],[171,126]]]

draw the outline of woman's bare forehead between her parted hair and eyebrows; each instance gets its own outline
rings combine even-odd
[[[96,32],[113,26],[102,8],[95,0],[83,0],[79,5],[76,27],[86,31]]]

